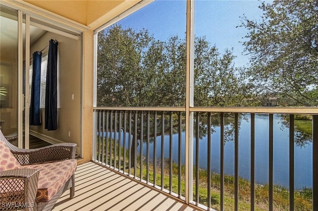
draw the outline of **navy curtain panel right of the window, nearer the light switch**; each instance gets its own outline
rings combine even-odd
[[[50,40],[45,87],[45,129],[57,129],[58,116],[58,42]]]

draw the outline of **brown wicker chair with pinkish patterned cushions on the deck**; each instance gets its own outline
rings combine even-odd
[[[75,194],[76,144],[25,150],[0,130],[0,210],[50,211],[68,189]]]

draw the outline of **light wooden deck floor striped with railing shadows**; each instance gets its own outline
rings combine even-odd
[[[79,165],[75,178],[75,197],[65,192],[53,211],[195,210],[93,162]]]

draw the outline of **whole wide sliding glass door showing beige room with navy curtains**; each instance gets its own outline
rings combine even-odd
[[[13,6],[15,9],[11,9]],[[0,2],[0,129],[5,136],[18,137],[14,144],[31,147],[34,140],[46,144],[76,143],[80,156],[82,119],[82,31],[39,18],[10,2]],[[56,127],[46,128],[46,85],[49,44],[58,46],[54,70],[57,79]],[[34,71],[34,54],[41,54],[39,68]],[[52,61],[52,60],[50,60]],[[37,85],[32,85],[34,72]],[[54,80],[55,80],[54,79]],[[32,86],[39,87],[39,102],[34,119]],[[32,97],[32,99],[33,99]],[[57,99],[56,99],[57,98]],[[38,99],[38,98],[37,98]],[[32,103],[33,102],[33,103]],[[55,105],[55,103],[54,103]],[[30,119],[32,116],[32,119]],[[34,121],[36,120],[36,121]],[[39,121],[37,121],[39,120]],[[30,138],[31,137],[31,138]],[[34,139],[33,139],[34,138]]]

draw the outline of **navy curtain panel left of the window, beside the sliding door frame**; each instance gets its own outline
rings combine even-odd
[[[30,125],[41,125],[40,88],[42,53],[34,52],[32,62],[32,86],[30,104]]]

